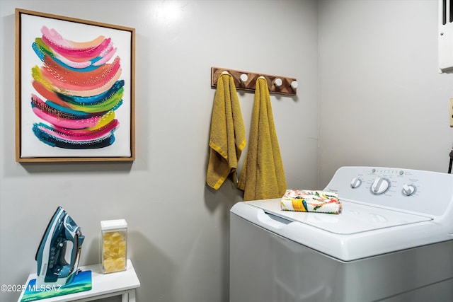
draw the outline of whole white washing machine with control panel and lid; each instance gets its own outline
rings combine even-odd
[[[231,302],[453,301],[452,174],[343,167],[324,190],[340,214],[231,208]]]

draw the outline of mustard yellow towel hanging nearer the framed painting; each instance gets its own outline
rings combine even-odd
[[[246,146],[246,130],[233,76],[222,74],[212,108],[210,161],[207,164],[207,185],[217,190],[228,175],[236,186],[236,168]]]

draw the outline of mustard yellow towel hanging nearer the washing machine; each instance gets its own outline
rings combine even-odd
[[[247,156],[239,177],[243,200],[281,198],[287,189],[268,83],[256,81]]]

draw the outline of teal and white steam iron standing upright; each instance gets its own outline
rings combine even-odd
[[[62,207],[58,207],[36,251],[36,285],[71,283],[78,273],[84,239],[80,227]],[[72,245],[70,253],[68,245]]]

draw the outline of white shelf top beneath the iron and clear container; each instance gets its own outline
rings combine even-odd
[[[82,271],[91,270],[92,288],[89,291],[82,291],[76,294],[68,294],[47,299],[38,300],[39,302],[65,302],[65,301],[93,301],[111,296],[122,296],[122,302],[135,302],[135,289],[140,286],[140,281],[135,273],[135,269],[130,260],[127,260],[127,269],[123,272],[103,274],[101,265],[87,265],[79,267]],[[36,274],[30,274],[25,286],[31,279],[35,279]],[[21,302],[23,291],[18,298]]]

